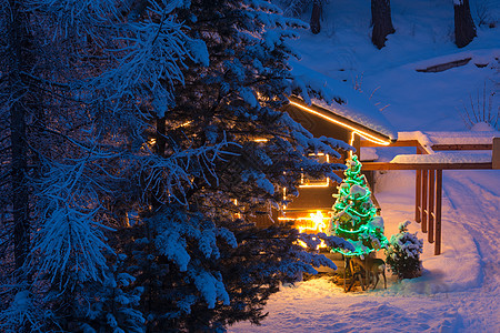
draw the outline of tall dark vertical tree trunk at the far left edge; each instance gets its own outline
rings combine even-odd
[[[27,14],[22,12],[19,0],[10,0],[11,16],[8,22],[9,34],[9,93],[10,93],[10,131],[12,150],[12,216],[16,269],[23,268],[30,249],[29,222],[29,188],[28,173],[28,143],[27,143],[27,107],[28,87],[21,78],[21,72],[29,72],[27,60]],[[26,282],[21,278],[19,282]]]

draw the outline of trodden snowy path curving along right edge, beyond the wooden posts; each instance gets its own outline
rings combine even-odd
[[[468,327],[483,327],[483,332],[499,332],[500,261],[498,233],[500,231],[499,171],[474,171],[466,176],[449,172],[444,193],[453,206],[451,214],[471,235],[480,256],[481,275],[477,295],[456,293],[459,313]]]

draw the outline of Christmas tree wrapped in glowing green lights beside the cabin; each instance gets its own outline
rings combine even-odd
[[[361,174],[361,163],[357,155],[347,161],[348,169],[333,204],[331,234],[342,238],[354,245],[356,251],[332,249],[349,256],[360,256],[383,249],[388,240],[383,235],[383,219],[377,215],[371,201],[367,179]]]

